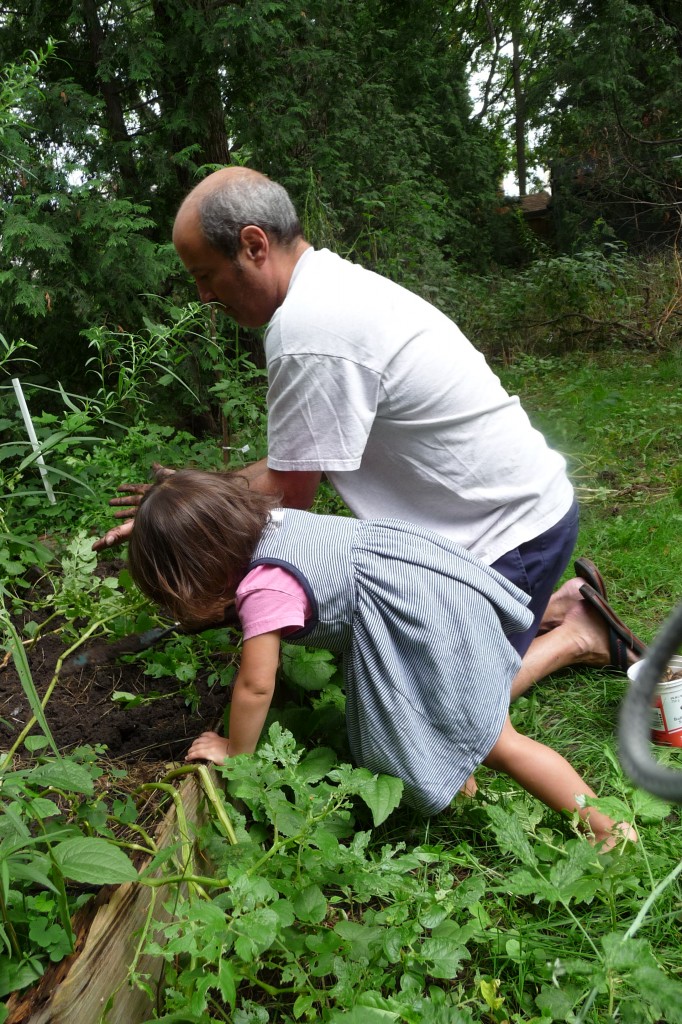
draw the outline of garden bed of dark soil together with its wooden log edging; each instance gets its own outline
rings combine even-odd
[[[119,568],[119,564],[114,566],[115,571]],[[202,787],[194,775],[172,783],[184,818],[180,827],[176,804],[171,802],[170,808],[168,803],[160,806],[154,785],[170,769],[183,763],[195,736],[221,723],[228,689],[215,679],[210,681],[211,674],[216,675],[216,660],[212,667],[206,664],[202,667],[200,663],[190,687],[183,686],[172,675],[152,678],[145,673],[148,654],[128,654],[71,671],[62,667],[53,685],[68,648],[58,616],[50,618],[49,626],[45,625],[52,613],[50,607],[41,611],[38,617],[42,626],[35,640],[26,636],[27,614],[14,616],[12,624],[23,639],[33,687],[41,701],[51,688],[44,701],[44,715],[54,745],[63,756],[74,754],[77,764],[88,761],[92,764],[93,759],[96,762],[92,800],[79,798],[78,791],[75,795],[57,795],[54,799],[67,808],[67,817],[79,820],[79,815],[84,815],[84,822],[92,824],[88,808],[95,807],[98,797],[103,797],[102,805],[111,807],[116,794],[120,801],[125,803],[127,800],[137,806],[137,822],[153,838],[157,851],[184,842],[186,854],[191,848],[195,828],[204,818]],[[73,636],[73,630],[71,634]],[[82,653],[93,643],[84,644],[78,652]],[[172,643],[173,639],[168,638],[155,648],[157,656]],[[172,663],[170,650],[166,654]],[[231,650],[218,653],[216,657],[222,660],[225,669],[224,674],[218,675],[225,678],[233,657]],[[180,662],[181,658],[182,650]],[[117,701],[113,699],[116,693],[124,693],[127,697]],[[158,695],[150,699],[153,693]],[[10,774],[30,773],[42,754],[44,760],[54,763],[46,739],[42,740],[44,746],[39,745],[35,753],[31,752],[32,740],[41,741],[34,710],[23,685],[20,669],[7,651],[0,656],[0,750],[6,755],[16,746],[11,768],[5,765]],[[27,727],[26,736],[30,738],[17,742]],[[83,750],[87,748],[92,752],[84,755]],[[168,794],[165,796],[167,798]],[[48,787],[43,788],[41,799],[44,797],[51,797]],[[121,829],[123,842],[132,840],[130,856],[135,868],[140,872],[147,868],[152,857],[148,852],[139,852],[143,844],[138,843],[138,852],[134,852],[137,836],[134,833],[126,835],[125,825],[114,824],[113,827]],[[105,835],[97,831],[96,825],[95,834]],[[163,867],[158,870],[161,872]],[[8,1024],[71,1024],[74,1020],[78,1024],[98,1024],[100,1020],[108,1024],[136,1024],[152,1015],[150,995],[143,987],[128,984],[127,978],[135,963],[136,972],[148,977],[153,990],[159,983],[163,963],[159,957],[138,956],[137,944],[151,910],[153,892],[156,893],[154,919],[163,922],[168,919],[163,903],[171,890],[165,886],[153,890],[148,885],[134,882],[91,885],[89,888],[93,890],[92,895],[73,918],[74,951],[58,963],[47,962],[39,981],[8,997],[8,1016],[2,1018]],[[102,1017],[104,1011],[106,1015]]]

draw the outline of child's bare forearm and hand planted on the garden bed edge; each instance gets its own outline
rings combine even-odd
[[[219,764],[226,757],[253,754],[272,700],[279,663],[279,630],[244,641],[229,710],[229,738],[202,733],[189,748],[186,761],[201,758]]]

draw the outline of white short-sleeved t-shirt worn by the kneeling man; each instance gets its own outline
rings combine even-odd
[[[518,398],[386,278],[307,249],[265,355],[268,466],[322,470],[355,516],[419,523],[489,564],[570,508],[565,462]]]

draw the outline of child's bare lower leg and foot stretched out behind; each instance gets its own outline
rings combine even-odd
[[[576,797],[580,794],[594,797],[594,791],[560,754],[517,732],[509,717],[500,738],[483,763],[488,768],[504,771],[555,811],[577,810],[594,833],[597,843],[605,842],[610,847],[624,837],[633,841],[637,839],[634,829],[627,823],[616,825],[607,815],[593,807],[579,807]]]

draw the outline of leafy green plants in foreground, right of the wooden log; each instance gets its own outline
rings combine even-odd
[[[206,769],[181,769],[193,771]],[[229,800],[221,810],[211,787],[215,824],[199,837],[214,870],[184,861],[186,895],[174,893],[172,920],[150,925],[139,947],[166,964],[160,1020],[482,1024],[540,1012],[549,1024],[601,1020],[595,1008],[680,1020],[682,984],[636,938],[680,865],[649,888],[636,850],[600,856],[496,788],[461,805],[455,840],[442,822],[391,843],[382,831],[400,820],[400,783],[331,751],[305,754],[276,724],[256,755],[220,771]],[[641,794],[617,808],[642,823],[669,811]],[[475,838],[486,831],[497,856]],[[626,900],[637,912],[624,921]],[[131,978],[151,992],[135,963]]]

